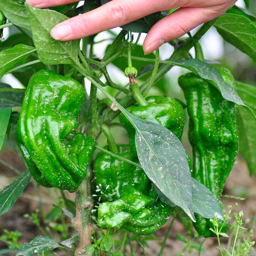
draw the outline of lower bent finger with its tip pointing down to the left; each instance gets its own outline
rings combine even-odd
[[[228,7],[227,7],[228,9]],[[148,32],[143,50],[149,54],[162,44],[185,35],[198,25],[213,20],[227,9],[216,7],[183,7],[159,20]]]

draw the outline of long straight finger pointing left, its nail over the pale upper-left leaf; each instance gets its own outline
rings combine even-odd
[[[97,9],[61,22],[52,29],[51,35],[61,41],[78,39],[122,26],[167,8],[168,1],[155,2],[156,0],[112,0]]]

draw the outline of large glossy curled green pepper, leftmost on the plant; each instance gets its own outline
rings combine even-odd
[[[30,79],[24,96],[16,139],[33,178],[44,187],[75,192],[85,178],[95,140],[76,133],[84,88],[69,77],[40,70]]]

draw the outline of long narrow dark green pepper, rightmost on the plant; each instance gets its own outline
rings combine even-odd
[[[219,69],[225,82],[235,88],[227,69]],[[193,177],[210,189],[219,201],[226,179],[238,152],[235,103],[223,99],[220,92],[194,73],[179,78],[187,100],[189,140],[193,148]],[[214,236],[211,222],[198,214],[195,228],[201,236]],[[225,232],[223,229],[222,232]]]

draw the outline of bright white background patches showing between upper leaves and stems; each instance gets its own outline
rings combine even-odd
[[[83,4],[84,1],[81,1],[81,4]],[[239,7],[244,8],[244,1],[243,0],[238,0],[236,2],[236,5]],[[8,38],[9,35],[9,28],[5,28],[4,29],[4,38]],[[114,28],[113,31],[115,33],[119,33],[120,32],[120,28]],[[192,30],[192,34],[193,34],[193,30]],[[142,45],[143,40],[145,38],[146,34],[142,34],[140,37],[140,41],[139,44]],[[110,34],[108,32],[102,32],[99,35],[97,35],[95,37],[95,42],[100,41],[102,39],[106,39],[106,38],[110,38]],[[134,33],[134,38],[137,38],[137,33]],[[102,43],[96,44],[94,45],[94,52],[97,53],[97,58],[102,58],[105,52],[105,48],[106,46],[110,43],[111,41],[104,41]],[[217,33],[217,31],[215,30],[215,28],[211,28],[204,36],[203,38],[200,40],[200,43],[202,45],[202,48],[204,50],[204,57],[205,59],[208,60],[218,60],[222,57],[222,55],[224,54],[224,48],[223,48],[223,39],[221,38],[221,36]],[[160,47],[160,58],[162,60],[167,59],[170,57],[172,53],[172,47],[168,44],[164,44]],[[190,52],[192,54],[192,56],[194,56],[194,51],[191,50]],[[126,84],[128,82],[128,80],[126,79],[126,77],[124,77],[124,73],[123,71],[119,70],[118,68],[116,68],[113,65],[109,65],[108,66],[108,72],[110,77],[112,78],[112,80],[117,83],[117,84]],[[167,74],[168,77],[170,77],[170,79],[178,79],[178,77],[180,76],[181,73],[184,73],[184,69],[180,68],[180,67],[173,67]],[[120,79],[121,78],[121,79]],[[103,78],[104,80],[104,78]],[[24,88],[24,86],[22,84],[20,84],[20,82],[13,77],[11,74],[7,74],[5,76],[3,76],[3,78],[1,79],[1,82],[6,83],[6,84],[10,84],[13,88]],[[85,86],[86,86],[86,91],[89,94],[90,92],[90,82],[85,80]],[[99,95],[100,98],[103,98],[103,95]]]

